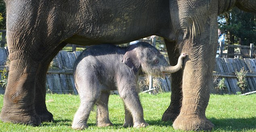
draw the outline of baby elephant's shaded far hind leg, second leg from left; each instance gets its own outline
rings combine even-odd
[[[102,91],[101,95],[96,102],[97,105],[97,126],[112,126],[113,124],[109,120],[109,109],[108,109],[108,101],[109,101],[109,91]]]

